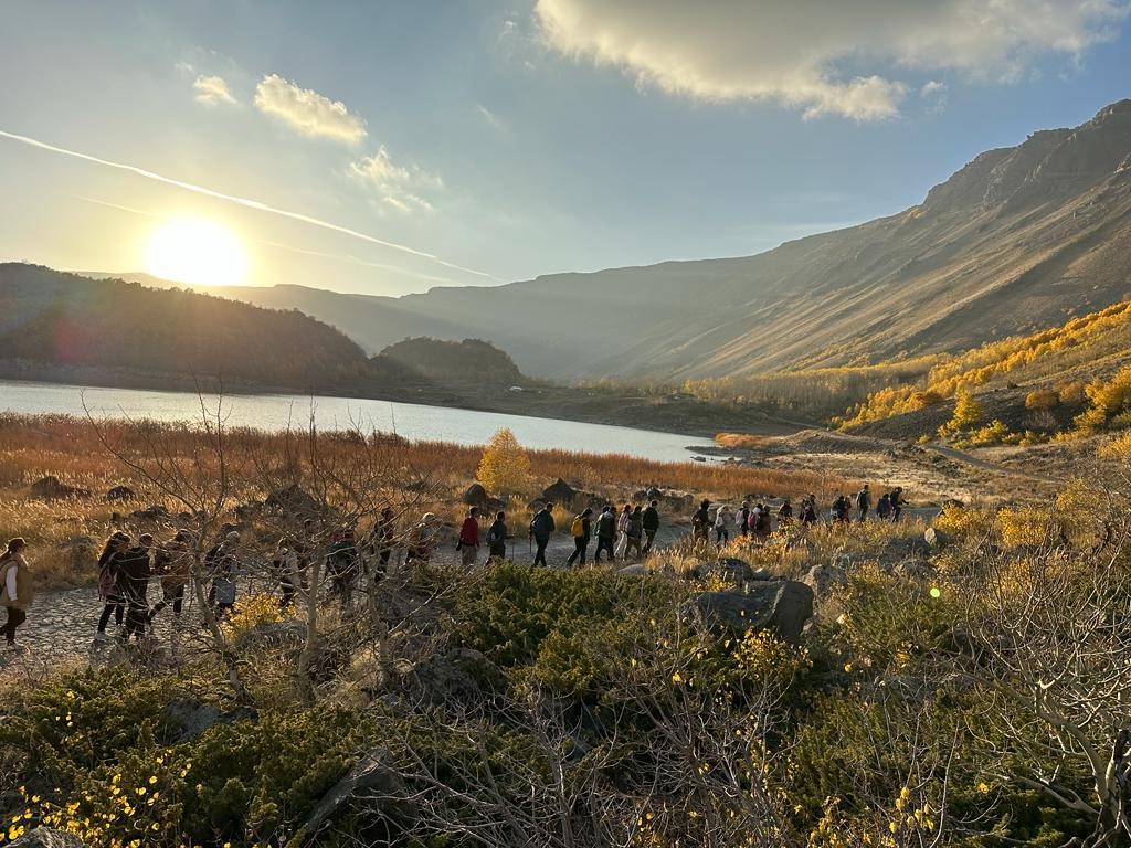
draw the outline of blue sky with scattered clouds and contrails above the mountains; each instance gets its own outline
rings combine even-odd
[[[1131,96],[1131,0],[0,0],[0,260],[398,295],[897,213]]]

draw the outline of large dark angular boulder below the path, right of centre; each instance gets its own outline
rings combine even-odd
[[[694,600],[703,622],[713,630],[775,630],[791,644],[813,617],[813,590],[796,580],[761,580],[739,590],[707,591]]]

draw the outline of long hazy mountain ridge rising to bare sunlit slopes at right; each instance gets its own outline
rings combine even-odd
[[[1131,296],[1131,101],[976,157],[887,218],[759,256],[400,298],[295,286],[370,351],[490,339],[526,373],[682,379],[965,349]]]

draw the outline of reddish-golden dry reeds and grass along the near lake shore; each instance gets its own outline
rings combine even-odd
[[[101,431],[101,438],[100,438]],[[105,443],[103,442],[105,440]],[[51,586],[88,583],[94,578],[89,552],[76,556],[67,542],[89,536],[95,545],[114,528],[131,529],[128,513],[139,507],[163,504],[175,514],[182,507],[138,479],[116,459],[107,444],[127,457],[141,458],[155,441],[169,456],[185,465],[215,462],[205,448],[199,429],[182,424],[150,422],[90,422],[69,416],[0,415],[0,537],[23,536],[32,545],[41,581]],[[303,441],[302,434],[287,436],[254,430],[226,433],[225,451],[230,469],[248,473],[249,497],[261,497],[250,474],[254,457],[278,456]],[[347,459],[362,448],[362,439],[348,432],[326,432],[318,438],[319,452],[329,459]],[[374,435],[369,447],[379,449],[400,469],[405,484],[428,479],[434,497],[416,499],[416,508],[430,509],[456,522],[465,507],[459,495],[476,474],[483,450],[441,442],[409,442],[398,436]],[[630,500],[633,492],[651,485],[673,488],[713,500],[739,500],[744,495],[772,496],[802,492],[822,499],[848,484],[839,477],[811,473],[786,473],[723,462],[659,462],[623,455],[595,455],[564,450],[528,451],[533,496],[562,477],[575,486],[614,501]],[[89,490],[89,497],[40,501],[28,496],[28,486],[52,475],[62,483]],[[124,484],[138,493],[138,502],[116,505],[105,501],[111,487]],[[126,517],[115,517],[121,511]],[[525,501],[512,512],[525,516]],[[519,519],[520,520],[520,519]],[[152,529],[150,527],[135,528]],[[171,528],[170,528],[171,529]],[[96,551],[95,551],[96,554]]]

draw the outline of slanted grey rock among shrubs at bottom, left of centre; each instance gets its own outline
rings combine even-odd
[[[373,751],[361,758],[333,789],[318,802],[287,845],[305,845],[311,837],[351,805],[364,806],[368,816],[392,821],[402,828],[416,817],[416,805],[407,797],[405,781],[385,765],[386,753]]]

